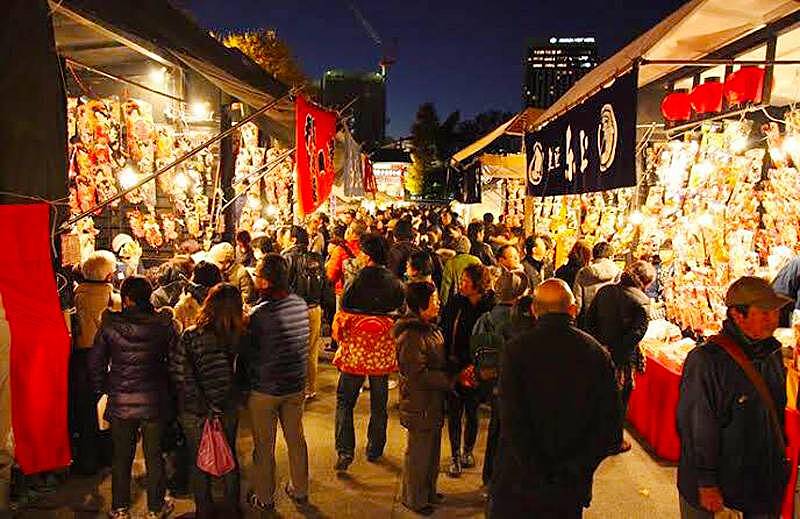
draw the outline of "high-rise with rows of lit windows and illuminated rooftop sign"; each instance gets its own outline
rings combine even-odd
[[[597,42],[591,36],[534,41],[525,56],[525,106],[547,108],[597,66]]]

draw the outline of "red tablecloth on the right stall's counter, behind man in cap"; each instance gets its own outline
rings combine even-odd
[[[636,387],[628,404],[628,421],[660,458],[677,462],[681,454],[676,414],[681,374],[647,356],[647,369],[636,378]],[[794,489],[797,483],[797,463],[800,458],[800,413],[786,409],[786,455],[792,471],[782,517],[791,519],[794,512]]]

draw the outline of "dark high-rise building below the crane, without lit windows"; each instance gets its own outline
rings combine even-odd
[[[386,137],[386,82],[381,74],[329,70],[322,76],[322,103],[343,110],[353,137],[365,147]]]

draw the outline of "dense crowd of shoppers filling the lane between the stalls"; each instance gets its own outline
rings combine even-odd
[[[349,470],[357,455],[353,413],[362,389],[370,401],[364,455],[369,462],[383,456],[390,389],[399,385],[407,429],[401,502],[414,512],[430,514],[444,499],[437,478],[445,424],[446,472],[457,478],[483,464],[490,517],[580,517],[600,462],[631,448],[623,421],[636,373],[645,369],[638,344],[656,281],[648,262],[621,268],[609,244],[579,241],[555,269],[547,235],[525,237],[491,215],[461,222],[433,208],[344,211],[334,221],[315,214],[305,225],[240,232],[235,241],[199,255],[181,250],[154,275],[128,276],[118,291],[113,253],[95,252],[81,266],[71,361],[73,469],[111,465],[112,517],[129,516],[139,437],[149,517],[171,512],[167,487],[188,487],[197,517],[239,515],[238,462],[222,477],[224,501],[215,504],[213,478],[197,456],[206,420],[216,417],[236,459],[243,410],[255,445],[246,504],[275,506],[278,423],[290,466],[283,492],[306,503],[303,410],[317,397],[328,333],[339,372],[335,469]],[[758,314],[758,335],[749,332],[747,309],[754,307],[749,319],[756,319],[755,307],[769,299],[759,294],[730,305],[725,330],[743,344],[767,341],[774,331]],[[775,300],[768,303],[771,309]],[[773,347],[765,345],[764,355]],[[703,452],[711,429],[745,419],[724,414],[735,406],[723,394],[726,380],[706,372],[730,370],[719,363],[712,354],[687,361],[682,510],[716,511],[720,496],[729,495],[726,485],[739,482],[708,477],[722,459]],[[100,411],[98,401],[105,403]],[[481,404],[490,419],[478,460]],[[109,431],[100,430],[102,419]],[[737,494],[745,509],[751,490]],[[765,507],[774,504],[770,494],[758,495]]]

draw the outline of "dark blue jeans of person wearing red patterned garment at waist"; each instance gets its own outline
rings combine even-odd
[[[364,375],[339,374],[336,388],[336,452],[350,456],[356,450],[356,433],[353,427],[353,409],[358,402],[359,390]],[[369,428],[367,429],[367,455],[380,457],[386,446],[386,424],[389,415],[386,406],[389,400],[389,375],[369,377]]]

